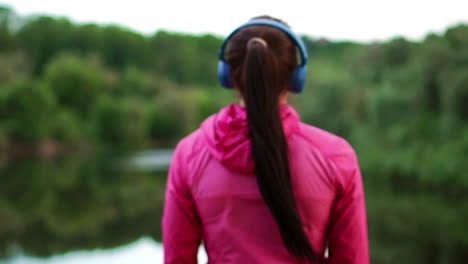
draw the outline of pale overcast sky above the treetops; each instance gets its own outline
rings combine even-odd
[[[422,39],[460,22],[468,0],[0,0],[21,16],[49,14],[75,22],[119,24],[145,34],[159,29],[225,36],[250,17],[270,14],[301,34],[334,40]]]

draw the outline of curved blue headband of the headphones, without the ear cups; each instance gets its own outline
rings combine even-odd
[[[229,39],[237,32],[239,31],[240,29],[244,28],[244,27],[248,27],[248,26],[252,26],[252,25],[265,25],[265,26],[271,26],[271,27],[274,27],[274,28],[277,28],[277,29],[280,29],[281,31],[283,31],[284,33],[286,33],[286,35],[288,35],[288,37],[294,41],[294,43],[296,44],[296,46],[298,47],[299,49],[299,54],[300,54],[300,57],[301,57],[301,63],[299,64],[300,66],[304,66],[307,64],[307,59],[308,59],[308,55],[307,55],[307,49],[305,47],[305,44],[304,42],[302,41],[302,39],[297,36],[294,32],[292,32],[292,30],[286,26],[285,24],[281,23],[281,22],[278,22],[276,20],[273,20],[273,19],[268,19],[268,18],[255,18],[255,19],[252,19],[252,20],[249,20],[247,23],[237,27],[236,29],[234,29],[234,31],[231,32],[231,34],[229,34],[223,41],[223,44],[221,45],[221,48],[219,49],[219,60],[222,60],[222,61],[225,61],[224,59],[224,51],[225,51],[225,48],[226,48],[226,45],[229,41]]]

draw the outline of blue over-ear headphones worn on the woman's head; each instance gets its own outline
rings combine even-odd
[[[297,65],[296,69],[293,72],[289,90],[293,93],[302,92],[302,89],[304,88],[305,79],[306,79],[307,58],[308,58],[307,50],[305,48],[304,42],[302,41],[300,37],[294,34],[294,32],[292,32],[285,24],[278,22],[276,20],[267,19],[267,18],[256,18],[256,19],[250,20],[249,22],[236,28],[223,41],[223,44],[221,45],[221,48],[219,49],[219,63],[218,63],[218,78],[219,78],[219,81],[221,82],[221,85],[225,88],[233,88],[231,68],[224,59],[224,50],[226,48],[227,42],[232,37],[232,35],[234,35],[241,28],[248,27],[251,25],[267,25],[267,26],[275,27],[277,29],[280,29],[284,33],[286,33],[289,36],[289,38],[294,41],[296,46],[299,48],[301,63]]]

